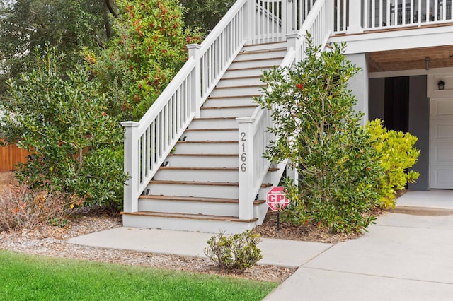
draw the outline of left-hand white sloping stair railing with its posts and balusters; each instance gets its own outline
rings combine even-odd
[[[188,45],[188,61],[142,119],[122,122],[125,172],[130,176],[124,191],[125,212],[138,211],[139,195],[249,38],[243,23],[250,9],[250,1],[236,1],[201,45]]]

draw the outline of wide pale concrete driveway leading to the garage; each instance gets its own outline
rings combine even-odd
[[[453,191],[408,191],[357,240],[302,264],[265,300],[453,300]]]

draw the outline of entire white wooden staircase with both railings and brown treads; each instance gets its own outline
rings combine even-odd
[[[237,0],[139,122],[125,127],[123,225],[243,232],[263,222],[286,162],[263,158],[275,137],[260,76],[304,59],[304,35],[326,45],[327,0]],[[297,18],[297,20],[293,20]]]

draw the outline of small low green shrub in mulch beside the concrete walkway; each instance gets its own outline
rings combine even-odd
[[[224,236],[224,232],[214,235],[207,241],[205,255],[217,263],[220,268],[228,271],[243,271],[250,268],[263,258],[261,250],[256,247],[260,242],[260,235],[251,230]]]

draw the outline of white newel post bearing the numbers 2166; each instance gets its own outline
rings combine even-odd
[[[252,117],[236,118],[239,125],[239,219],[253,218],[253,122]]]

